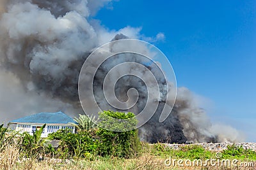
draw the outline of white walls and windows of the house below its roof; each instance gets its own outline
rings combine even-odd
[[[26,123],[18,123],[16,125],[15,130],[20,132],[29,132],[29,134],[33,135],[33,132],[36,129],[39,129],[44,124],[26,124]],[[52,132],[57,132],[59,129],[70,129],[72,133],[75,133],[75,126],[72,124],[46,124],[44,131],[42,132],[41,137],[47,138],[48,134]]]

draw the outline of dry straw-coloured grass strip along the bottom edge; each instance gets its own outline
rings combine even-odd
[[[120,159],[120,158],[106,158],[98,157],[94,160],[77,159],[77,160],[60,160],[60,159],[47,159],[38,161],[36,159],[24,160],[21,159],[22,155],[19,153],[19,143],[12,143],[4,146],[4,150],[0,153],[0,169],[256,169],[256,162],[253,167],[221,167],[221,166],[205,166],[205,167],[189,167],[189,166],[165,166],[164,160],[167,159],[163,156],[152,155],[152,146],[143,146],[143,153],[134,159]]]

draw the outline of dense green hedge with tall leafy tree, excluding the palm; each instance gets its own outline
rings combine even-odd
[[[99,124],[109,124],[114,129],[122,126],[134,126],[138,120],[133,113],[121,113],[104,111],[99,113]],[[109,118],[129,119],[125,124],[111,124]],[[126,132],[108,131],[102,127],[95,127],[90,131],[79,131],[73,134],[67,130],[59,130],[49,134],[49,139],[60,140],[58,148],[47,146],[47,153],[55,157],[92,157],[92,156],[113,156],[113,157],[134,157],[140,152],[140,139],[138,130]]]

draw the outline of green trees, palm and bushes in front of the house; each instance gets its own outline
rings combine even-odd
[[[121,113],[113,111],[104,111],[99,113],[101,120],[100,124],[105,124],[113,127],[113,130],[120,128],[134,129],[125,132],[108,131],[101,127],[97,127],[93,123],[93,118],[86,115],[79,115],[76,118],[79,126],[79,131],[76,134],[70,132],[70,129],[60,129],[58,132],[49,134],[48,138],[41,138],[46,125],[43,125],[40,130],[36,129],[33,135],[28,132],[20,134],[20,132],[13,133],[8,136],[13,138],[8,141],[9,144],[17,144],[20,157],[27,157],[31,159],[38,158],[38,156],[47,156],[60,159],[74,159],[86,158],[89,160],[95,159],[99,156],[108,158],[111,157],[134,157],[140,153],[141,142],[138,138],[138,130],[135,130],[138,120],[136,120],[133,113]],[[118,122],[111,124],[109,119],[117,118]],[[7,130],[0,125],[0,139],[4,139],[6,143]],[[47,140],[56,139],[60,143],[57,148],[49,145]],[[19,141],[19,142],[18,142]],[[0,150],[1,151],[1,150]]]

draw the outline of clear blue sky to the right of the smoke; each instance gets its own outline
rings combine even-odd
[[[179,87],[205,97],[212,122],[224,122],[256,142],[256,1],[114,1],[93,18],[109,29],[141,34],[170,60]]]

